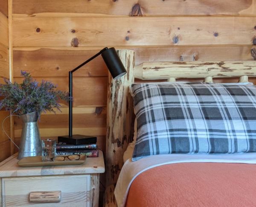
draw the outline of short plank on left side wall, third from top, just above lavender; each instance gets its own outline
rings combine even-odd
[[[9,52],[8,49],[0,44],[0,76],[9,78]]]

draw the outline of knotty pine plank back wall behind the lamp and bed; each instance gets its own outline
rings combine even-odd
[[[13,0],[12,18],[14,79],[26,70],[66,91],[68,71],[105,46],[134,49],[137,65],[253,60],[256,45],[256,0]],[[73,76],[73,132],[97,135],[104,148],[106,66],[98,57]],[[67,134],[67,106],[39,126],[42,137]],[[20,130],[15,119],[17,141]]]

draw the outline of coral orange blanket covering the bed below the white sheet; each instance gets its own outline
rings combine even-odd
[[[126,207],[253,207],[256,164],[178,163],[151,168],[131,184]]]

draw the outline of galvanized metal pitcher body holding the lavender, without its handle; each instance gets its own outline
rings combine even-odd
[[[29,156],[41,156],[41,138],[38,127],[38,114],[32,112],[20,116],[23,121],[20,147],[17,159]]]

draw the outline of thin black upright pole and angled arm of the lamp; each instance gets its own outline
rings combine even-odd
[[[86,60],[84,63],[82,63],[81,65],[77,66],[75,69],[71,70],[69,72],[68,75],[68,91],[69,91],[69,104],[68,104],[68,110],[69,110],[69,126],[68,126],[68,135],[69,137],[72,137],[72,114],[73,114],[73,104],[72,104],[72,97],[73,97],[73,90],[72,90],[72,82],[73,82],[73,72],[75,72],[77,69],[81,68],[82,66],[84,66],[86,63],[90,62],[91,60],[93,60],[94,58],[96,58],[97,56],[99,56],[100,54],[102,54],[102,52],[104,52],[105,50],[107,50],[108,48],[105,47],[103,48],[100,52],[98,52],[96,55],[93,55],[93,57],[89,58],[88,60]]]

